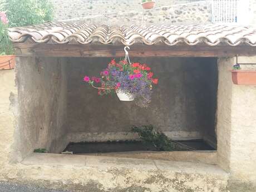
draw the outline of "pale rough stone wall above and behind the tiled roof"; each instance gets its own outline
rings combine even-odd
[[[97,24],[206,23],[211,20],[210,1],[158,0],[145,11],[140,0],[52,0],[55,19],[82,20]],[[77,19],[79,18],[79,19]]]

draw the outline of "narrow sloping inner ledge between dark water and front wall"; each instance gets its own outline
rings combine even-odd
[[[127,151],[127,152],[105,152],[91,154],[77,154],[89,156],[112,156],[137,159],[152,159],[166,161],[184,161],[204,164],[217,164],[216,151]]]

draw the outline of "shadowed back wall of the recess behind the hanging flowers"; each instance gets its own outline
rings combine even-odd
[[[205,134],[215,141],[218,72],[214,58],[132,58],[148,63],[159,78],[147,109],[120,102],[116,95],[97,96],[97,90],[82,81],[85,75],[99,75],[110,60],[71,58],[68,62],[70,141],[135,139],[129,134],[131,126],[149,124],[173,139],[201,139]]]

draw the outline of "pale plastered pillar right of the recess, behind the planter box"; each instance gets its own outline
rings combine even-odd
[[[239,57],[256,63],[256,57]],[[230,173],[229,190],[256,191],[256,86],[234,85],[235,58],[220,58],[218,87],[218,162]],[[242,65],[242,69],[256,66]]]

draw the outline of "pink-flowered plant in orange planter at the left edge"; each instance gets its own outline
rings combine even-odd
[[[12,43],[8,38],[8,23],[6,13],[0,12],[0,70],[10,70],[15,65]]]

